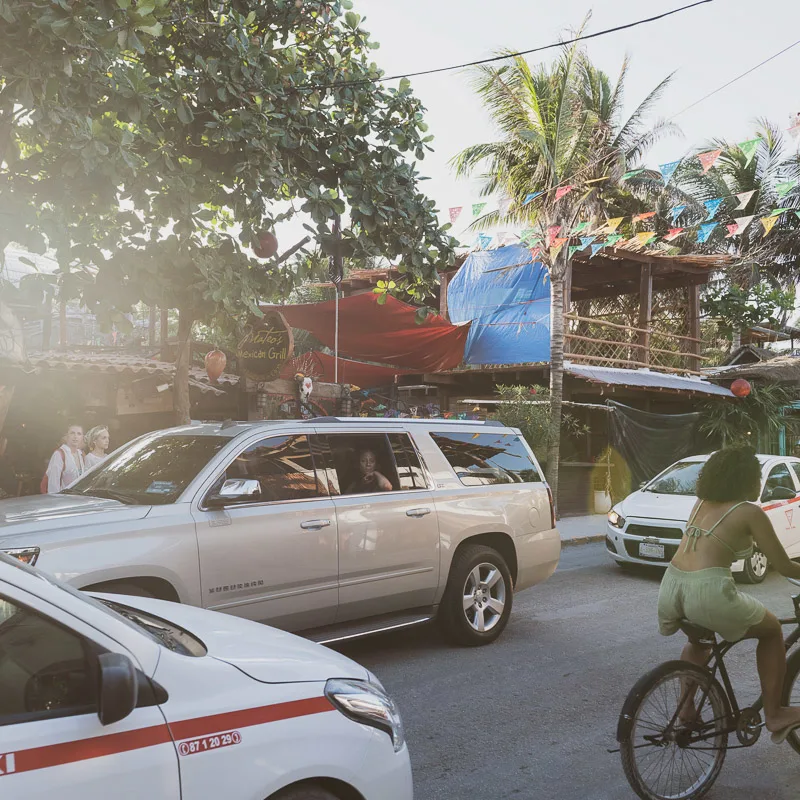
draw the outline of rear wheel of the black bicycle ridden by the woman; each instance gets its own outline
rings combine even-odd
[[[686,661],[645,675],[622,709],[622,767],[642,800],[695,800],[717,779],[728,749],[730,710],[719,681]]]

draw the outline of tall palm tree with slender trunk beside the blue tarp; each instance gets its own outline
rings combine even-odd
[[[623,175],[639,163],[658,137],[672,130],[668,123],[652,127],[644,123],[670,78],[656,86],[626,119],[622,106],[627,60],[612,82],[577,44],[565,45],[551,65],[531,67],[522,57],[509,58],[510,63],[499,68],[478,67],[475,81],[500,139],[468,147],[453,159],[457,175],[480,174],[484,195],[502,192],[512,201],[507,214],[489,214],[475,226],[508,223],[531,227],[544,241],[554,226],[560,226],[560,235],[565,237],[578,222],[646,210],[651,191],[663,188],[658,173],[644,172],[635,181],[623,181]],[[557,200],[557,190],[566,187],[573,188]],[[535,192],[543,194],[526,203]],[[568,247],[546,250],[541,255],[551,282],[546,471],[557,497],[564,289],[571,258]]]

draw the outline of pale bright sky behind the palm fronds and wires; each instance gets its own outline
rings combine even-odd
[[[497,50],[525,50],[558,41],[592,12],[588,32],[655,16],[691,0],[354,0],[363,27],[380,42],[375,61],[387,74],[419,71],[485,58]],[[752,138],[758,118],[782,128],[800,111],[800,44],[695,108],[691,103],[800,38],[798,0],[714,0],[665,20],[586,43],[592,60],[616,76],[631,59],[626,104],[633,110],[667,75],[675,76],[655,116],[670,118],[682,135],[659,142],[645,163],[674,161],[712,137]],[[557,51],[530,56],[550,61]],[[414,92],[427,108],[434,152],[419,164],[422,186],[436,200],[442,222],[451,206],[479,200],[476,181],[456,180],[450,159],[470,144],[495,138],[470,87],[467,71],[417,77]],[[790,144],[794,144],[789,140]],[[454,233],[471,221],[467,209]],[[465,235],[465,241],[466,241]]]

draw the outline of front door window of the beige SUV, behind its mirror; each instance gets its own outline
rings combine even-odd
[[[260,496],[247,498],[248,503],[327,496],[317,480],[308,437],[301,435],[270,436],[250,445],[230,463],[212,492],[218,491],[224,480],[234,478],[256,480],[261,485]]]

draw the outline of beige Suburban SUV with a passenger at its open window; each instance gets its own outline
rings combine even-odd
[[[482,422],[193,424],[130,442],[60,494],[0,502],[0,550],[72,586],[325,642],[434,617],[490,642],[560,547],[532,451]]]

